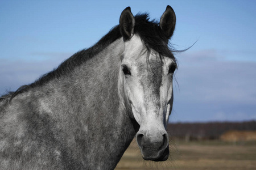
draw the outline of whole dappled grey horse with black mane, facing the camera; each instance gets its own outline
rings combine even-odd
[[[135,137],[144,160],[170,154],[177,63],[171,6],[119,25],[35,82],[0,98],[0,169],[114,169]]]

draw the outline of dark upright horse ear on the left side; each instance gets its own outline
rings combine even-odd
[[[134,35],[135,18],[131,14],[131,8],[127,7],[122,11],[119,19],[119,27],[123,40],[129,40]]]

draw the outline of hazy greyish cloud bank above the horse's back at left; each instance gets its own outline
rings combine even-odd
[[[0,95],[7,91],[16,91],[24,84],[30,84],[43,74],[48,73],[60,65],[64,59],[71,56],[66,53],[34,53],[34,56],[44,56],[43,58],[13,61],[0,58]]]

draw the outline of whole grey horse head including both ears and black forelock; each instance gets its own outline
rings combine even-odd
[[[166,125],[174,99],[172,79],[176,62],[168,48],[168,40],[174,32],[175,21],[170,6],[164,11],[159,25],[152,28],[137,28],[136,16],[130,7],[123,10],[119,20],[124,42],[119,75],[124,103],[139,124],[136,138],[145,160],[163,161],[169,155]],[[155,29],[155,35],[147,35],[147,31],[152,31],[150,29]],[[158,39],[155,39],[156,35]]]

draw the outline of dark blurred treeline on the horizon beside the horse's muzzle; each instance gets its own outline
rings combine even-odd
[[[167,126],[170,137],[185,140],[219,139],[221,134],[229,130],[256,130],[256,121],[172,123]]]

